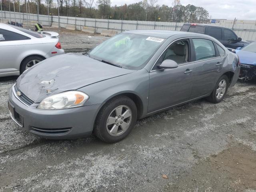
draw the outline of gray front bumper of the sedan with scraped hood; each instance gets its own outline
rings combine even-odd
[[[9,110],[12,119],[25,130],[43,138],[72,139],[92,134],[94,120],[101,104],[63,110],[37,109],[26,106],[10,89]]]

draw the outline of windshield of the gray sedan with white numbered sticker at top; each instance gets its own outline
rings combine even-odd
[[[104,60],[122,68],[143,68],[164,42],[164,38],[120,33],[88,52],[91,58]]]

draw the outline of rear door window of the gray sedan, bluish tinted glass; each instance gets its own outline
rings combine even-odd
[[[214,44],[208,39],[192,39],[196,52],[196,60],[203,60],[215,57]]]

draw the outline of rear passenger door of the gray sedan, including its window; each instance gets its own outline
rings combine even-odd
[[[224,56],[220,57],[214,42],[210,39],[192,38],[191,41],[195,61],[191,93],[193,99],[212,92],[219,78],[218,73],[222,68]]]

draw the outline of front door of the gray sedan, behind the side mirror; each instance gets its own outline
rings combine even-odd
[[[163,60],[174,60],[178,68],[159,70]],[[190,62],[190,44],[182,40],[171,44],[149,74],[148,113],[180,104],[190,99],[194,63]]]

